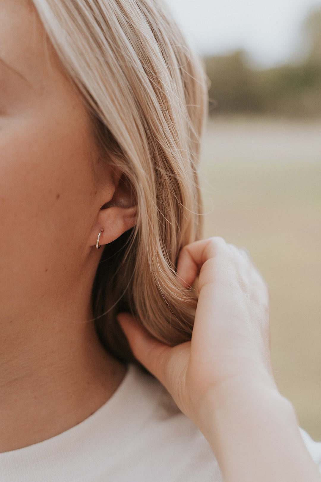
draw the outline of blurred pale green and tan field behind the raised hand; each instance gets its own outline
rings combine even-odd
[[[270,290],[272,362],[321,441],[321,121],[208,121],[205,236],[245,246]]]

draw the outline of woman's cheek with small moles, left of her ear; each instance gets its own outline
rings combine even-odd
[[[89,134],[59,119],[0,128],[0,288],[7,280],[8,293],[10,277],[33,289],[54,273],[67,281],[67,260],[85,247],[95,195]]]

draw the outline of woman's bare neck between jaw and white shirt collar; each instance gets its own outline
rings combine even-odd
[[[122,381],[126,367],[101,346],[88,299],[0,320],[0,452],[74,427]]]

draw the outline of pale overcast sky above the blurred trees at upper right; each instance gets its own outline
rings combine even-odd
[[[300,43],[304,18],[321,0],[167,0],[200,53],[243,47],[262,67],[283,63]],[[302,40],[301,40],[302,42]]]

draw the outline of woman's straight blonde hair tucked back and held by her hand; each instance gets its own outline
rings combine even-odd
[[[176,264],[180,249],[202,236],[204,66],[159,1],[33,1],[106,161],[122,170],[137,200],[135,228],[105,246],[92,289],[103,345],[133,361],[120,311],[169,345],[192,334],[196,297],[182,288]]]

